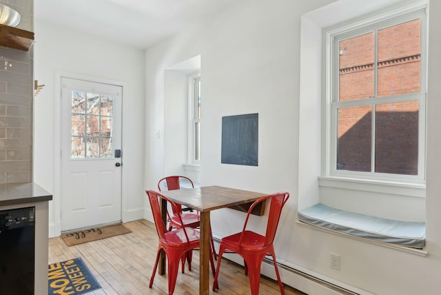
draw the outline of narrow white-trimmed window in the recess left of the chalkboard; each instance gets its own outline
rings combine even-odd
[[[201,74],[193,74],[188,78],[189,89],[189,163],[199,164],[201,161]]]

